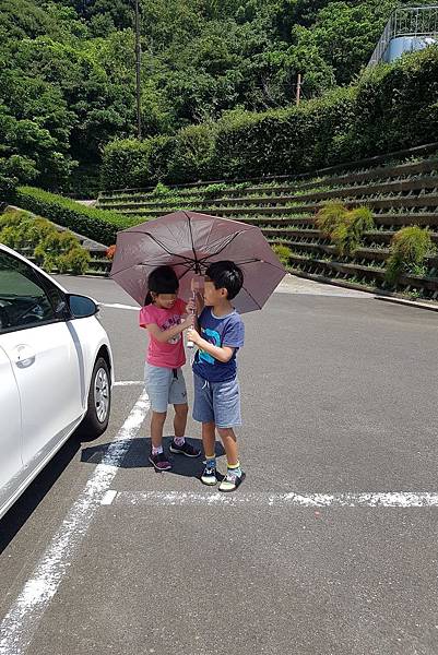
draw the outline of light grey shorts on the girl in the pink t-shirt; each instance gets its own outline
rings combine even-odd
[[[187,403],[186,380],[182,369],[168,369],[161,366],[144,367],[144,386],[151,401],[153,412],[164,414],[167,405]]]

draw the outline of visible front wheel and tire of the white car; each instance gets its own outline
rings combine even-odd
[[[88,391],[88,406],[80,431],[86,439],[105,432],[111,408],[111,382],[106,360],[98,357],[93,368]]]

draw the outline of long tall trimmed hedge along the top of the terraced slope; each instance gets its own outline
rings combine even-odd
[[[299,107],[234,110],[175,136],[116,141],[107,189],[296,174],[438,141],[438,46],[366,71]]]

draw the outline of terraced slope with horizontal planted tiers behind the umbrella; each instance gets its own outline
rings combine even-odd
[[[429,147],[430,151],[430,147]],[[371,210],[375,229],[351,257],[316,226],[317,212],[329,201]],[[175,210],[192,210],[258,225],[272,243],[289,249],[288,269],[297,274],[389,288],[384,262],[395,231],[403,226],[428,227],[438,245],[438,146],[423,158],[393,158],[383,165],[351,165],[295,179],[238,184],[211,183],[155,190],[103,192],[98,206],[138,216],[139,222]],[[426,261],[423,275],[402,276],[399,290],[438,297],[438,257]]]

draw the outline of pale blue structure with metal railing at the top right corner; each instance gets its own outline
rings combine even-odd
[[[393,61],[403,52],[421,50],[437,40],[438,4],[399,7],[387,23],[368,68],[381,61]]]

